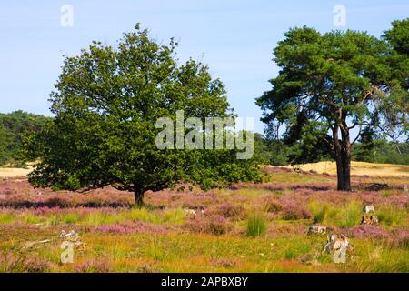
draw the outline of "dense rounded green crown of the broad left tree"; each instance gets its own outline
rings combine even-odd
[[[158,118],[233,116],[224,84],[193,60],[178,65],[174,40],[159,45],[136,25],[117,47],[94,42],[66,57],[50,95],[53,123],[27,137],[27,156],[41,159],[29,176],[34,186],[77,190],[107,185],[162,190],[180,181],[205,189],[257,180],[253,160],[237,150],[160,150]],[[142,203],[142,201],[137,201]]]

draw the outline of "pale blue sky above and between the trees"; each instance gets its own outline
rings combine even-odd
[[[73,6],[73,27],[60,24],[62,5]],[[344,27],[334,26],[335,5],[346,8]],[[224,81],[238,115],[254,117],[254,129],[263,132],[254,98],[277,75],[272,51],[288,28],[381,35],[394,19],[408,16],[407,0],[0,0],[0,112],[50,115],[47,98],[62,55],[76,55],[92,40],[114,45],[140,22],[158,41],[174,36],[181,62],[191,56],[208,64]]]

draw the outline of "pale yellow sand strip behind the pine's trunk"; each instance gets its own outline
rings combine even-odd
[[[292,168],[292,166],[286,166]],[[303,171],[314,170],[317,173],[336,174],[335,162],[319,162],[314,164],[300,165]],[[409,166],[392,164],[372,164],[364,162],[352,162],[352,175],[357,176],[409,176]]]

